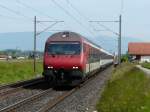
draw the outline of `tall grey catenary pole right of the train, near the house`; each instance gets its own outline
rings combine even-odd
[[[121,63],[121,27],[122,27],[122,16],[119,16],[119,38],[118,38],[118,64]]]

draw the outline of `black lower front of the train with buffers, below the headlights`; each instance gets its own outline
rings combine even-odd
[[[78,69],[73,70],[44,70],[43,76],[45,80],[53,86],[76,86],[84,80],[84,74]]]

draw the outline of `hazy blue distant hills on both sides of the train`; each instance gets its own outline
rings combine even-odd
[[[37,37],[37,50],[44,51],[44,44],[46,39],[52,33],[43,33]],[[15,32],[15,33],[0,33],[0,51],[5,49],[16,49],[16,50],[33,50],[33,36],[32,32]],[[100,35],[99,37],[88,38],[94,43],[102,46],[110,52],[117,51],[117,37],[109,37]],[[128,42],[141,41],[137,38],[123,37],[122,38],[122,51],[125,53],[127,51]]]

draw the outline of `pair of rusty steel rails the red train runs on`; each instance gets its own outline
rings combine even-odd
[[[74,89],[63,93],[62,95],[54,98],[53,100],[50,100],[48,103],[44,104],[44,107],[42,107],[41,109],[39,109],[39,111],[37,112],[47,112],[49,110],[51,110],[53,107],[55,107],[57,104],[59,104],[60,102],[62,102],[65,98],[67,98],[68,96],[70,96],[71,94],[73,94],[74,92],[76,92],[77,90],[79,90],[81,87],[84,87],[87,83],[89,83],[90,81],[92,81],[94,78],[96,78],[96,76],[98,76],[98,72],[93,73],[91,76],[89,76],[84,83],[80,84],[79,86],[75,87]],[[49,92],[52,91],[52,88],[45,90],[41,93],[32,95],[31,97],[28,97],[26,99],[23,99],[19,102],[16,102],[13,105],[7,106],[3,109],[0,110],[0,112],[16,112],[17,108],[20,108],[21,106],[23,106],[24,104],[33,102],[34,100],[47,95]]]

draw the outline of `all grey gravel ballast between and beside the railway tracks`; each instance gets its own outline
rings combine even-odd
[[[62,102],[53,107],[49,112],[96,112],[95,105],[97,100],[100,97],[100,93],[102,92],[105,82],[109,79],[111,75],[112,67],[101,71],[98,76],[89,81],[85,86],[78,89],[71,96],[64,99]],[[3,101],[0,101],[0,109],[6,107],[14,102],[22,100],[25,97],[29,97],[39,91],[45,90],[46,87],[44,85],[40,85],[40,87],[35,88],[24,88],[25,92],[16,93],[9,98],[6,98]],[[40,89],[41,88],[41,89]],[[36,99],[32,103],[27,103],[22,107],[17,109],[17,112],[36,112],[40,108],[42,108],[47,102],[53,101],[58,96],[61,96],[66,90],[52,90],[52,92],[48,92],[46,95]]]

